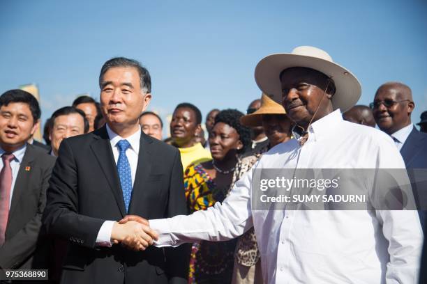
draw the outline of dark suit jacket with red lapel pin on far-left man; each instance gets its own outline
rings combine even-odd
[[[46,269],[46,244],[40,228],[54,162],[54,157],[27,144],[13,189],[6,242],[0,247],[3,269]]]

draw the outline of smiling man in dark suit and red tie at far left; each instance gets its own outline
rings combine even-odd
[[[40,233],[54,157],[29,143],[40,108],[33,95],[8,90],[0,96],[0,267],[45,269]]]

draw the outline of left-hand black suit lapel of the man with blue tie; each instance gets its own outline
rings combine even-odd
[[[114,198],[116,199],[117,206],[119,206],[121,214],[125,216],[126,209],[123,201],[123,193],[121,191],[119,174],[117,173],[117,166],[114,161],[107,129],[104,126],[93,132],[93,134],[95,134],[95,140],[91,143],[91,150],[98,160],[99,166],[105,175],[105,180],[107,180],[110,185],[110,189],[114,194]]]

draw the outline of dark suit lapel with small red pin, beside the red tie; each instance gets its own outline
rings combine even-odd
[[[9,220],[10,216],[13,215],[13,212],[18,207],[21,196],[25,194],[26,190],[31,189],[31,184],[29,184],[29,180],[31,178],[31,173],[33,172],[34,159],[35,155],[33,152],[33,145],[27,144],[27,149],[25,150],[25,154],[22,158],[20,169],[16,177],[15,187],[13,187],[12,202],[10,203],[8,217]]]

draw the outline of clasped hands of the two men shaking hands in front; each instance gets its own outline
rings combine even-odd
[[[158,239],[149,221],[140,216],[128,215],[115,222],[111,232],[113,244],[122,244],[133,251],[144,251]]]

